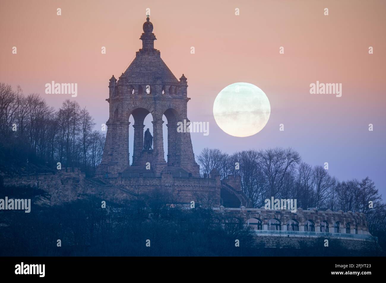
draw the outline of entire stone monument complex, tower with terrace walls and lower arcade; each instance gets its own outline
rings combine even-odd
[[[230,221],[243,222],[255,230],[267,246],[279,242],[296,245],[285,237],[335,237],[369,240],[363,214],[332,212],[318,209],[296,212],[249,208],[250,201],[241,188],[240,176],[220,179],[216,169],[205,178],[195,162],[190,133],[177,131],[177,123],[187,122],[187,79],[179,80],[154,49],[153,25],[147,17],[141,35],[142,48],[119,80],[109,81],[110,117],[102,162],[95,178],[86,178],[78,169],[58,170],[56,174],[3,176],[4,186],[29,185],[50,195],[50,203],[61,204],[85,195],[97,195],[119,203],[121,200],[151,195],[154,189],[169,193],[175,203],[190,204],[192,200],[211,199],[213,210],[229,216]],[[153,118],[152,149],[144,149],[144,119]],[[134,148],[129,164],[129,117],[134,118]],[[168,120],[168,156],[164,159],[163,115]],[[146,163],[151,169],[146,169]],[[233,220],[232,220],[233,219]],[[277,240],[267,236],[281,237]],[[349,240],[348,240],[349,238]],[[283,242],[283,243],[284,243]]]

